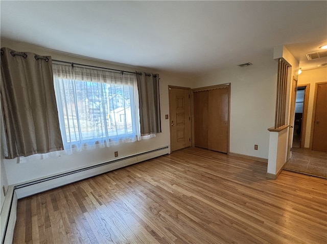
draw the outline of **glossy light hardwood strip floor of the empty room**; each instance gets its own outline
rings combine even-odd
[[[18,201],[13,243],[326,243],[327,181],[200,148]]]

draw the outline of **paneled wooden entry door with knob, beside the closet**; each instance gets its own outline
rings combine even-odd
[[[169,87],[171,151],[191,146],[191,89]]]

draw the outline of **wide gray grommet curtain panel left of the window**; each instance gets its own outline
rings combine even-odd
[[[63,150],[51,57],[1,48],[1,102],[6,158]]]

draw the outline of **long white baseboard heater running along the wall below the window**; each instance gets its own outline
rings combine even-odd
[[[49,191],[53,188],[87,179],[169,153],[170,148],[169,146],[166,146],[33,181],[9,185],[1,212],[1,243],[12,243],[16,223],[18,199]]]

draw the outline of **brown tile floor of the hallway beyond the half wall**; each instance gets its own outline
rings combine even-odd
[[[327,179],[327,152],[307,148],[292,148],[292,157],[284,170]]]

